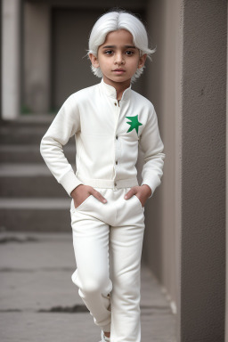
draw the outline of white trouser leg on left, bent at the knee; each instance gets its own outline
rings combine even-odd
[[[73,213],[71,217],[77,263],[72,281],[79,288],[78,294],[94,317],[94,323],[102,330],[110,331],[110,226],[81,212]]]

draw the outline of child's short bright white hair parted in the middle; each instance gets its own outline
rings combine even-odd
[[[105,42],[108,33],[120,28],[124,28],[132,34],[133,43],[139,49],[140,56],[147,53],[147,58],[151,60],[151,54],[155,53],[156,48],[150,49],[148,47],[147,31],[142,24],[142,21],[133,13],[122,10],[102,14],[102,16],[95,22],[89,37],[89,50],[87,50],[87,56],[89,57],[89,53],[93,53],[94,56],[97,57],[98,48]],[[136,70],[131,79],[132,83],[134,83],[136,78],[142,75],[144,68],[145,66]],[[102,70],[100,68],[95,68],[91,65],[91,69],[95,76],[102,77]]]

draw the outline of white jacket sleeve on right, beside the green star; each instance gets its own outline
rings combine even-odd
[[[163,175],[164,145],[159,134],[158,118],[152,105],[147,123],[142,130],[139,140],[140,147],[144,153],[144,164],[142,167],[142,184],[147,184],[151,188],[151,196],[161,183]],[[142,185],[141,184],[141,185]],[[151,196],[149,199],[151,199]]]

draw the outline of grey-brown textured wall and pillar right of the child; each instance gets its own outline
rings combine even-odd
[[[226,1],[150,2],[148,97],[167,155],[146,208],[146,260],[180,341],[224,341]]]

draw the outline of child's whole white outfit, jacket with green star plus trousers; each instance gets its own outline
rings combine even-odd
[[[62,146],[76,137],[74,173]],[[165,154],[152,103],[131,86],[117,101],[114,87],[102,82],[69,96],[53,119],[40,151],[69,196],[86,184],[107,199],[89,195],[70,215],[77,269],[72,281],[79,296],[111,342],[140,342],[140,270],[144,208],[136,195],[138,144],[144,152],[142,184],[151,196],[160,184]]]

